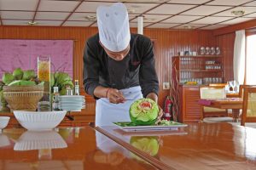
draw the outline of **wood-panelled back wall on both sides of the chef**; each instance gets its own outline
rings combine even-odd
[[[132,29],[136,32],[136,29]],[[83,79],[83,51],[86,39],[97,32],[97,28],[54,27],[54,26],[0,26],[0,38],[11,39],[73,39],[73,77]],[[179,51],[199,51],[201,46],[216,46],[212,31],[170,31],[145,29],[144,34],[155,42],[156,69],[160,79],[159,103],[164,104],[168,90],[162,89],[162,82],[170,82],[172,56]],[[92,99],[86,96],[86,99]]]

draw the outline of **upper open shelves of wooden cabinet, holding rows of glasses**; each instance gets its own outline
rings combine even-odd
[[[224,79],[221,55],[175,56],[172,65],[172,77],[177,77],[179,84],[221,83]]]

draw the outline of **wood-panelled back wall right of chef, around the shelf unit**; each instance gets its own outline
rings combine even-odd
[[[163,105],[168,90],[163,90],[163,82],[170,82],[172,56],[180,51],[199,51],[203,47],[215,47],[211,31],[168,31],[145,29],[144,34],[155,41],[156,69],[160,80],[160,105]]]

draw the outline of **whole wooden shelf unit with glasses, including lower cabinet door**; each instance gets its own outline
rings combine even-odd
[[[201,106],[197,102],[200,99],[199,86],[188,86],[184,83],[197,82],[207,85],[223,82],[223,63],[222,55],[172,57],[172,80],[177,80],[175,83],[179,85],[180,121],[199,122],[201,118]]]

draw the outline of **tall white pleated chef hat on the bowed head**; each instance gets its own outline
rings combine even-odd
[[[128,47],[131,39],[129,17],[124,3],[100,6],[96,10],[100,41],[105,48],[119,52]]]

